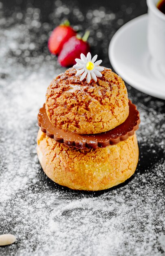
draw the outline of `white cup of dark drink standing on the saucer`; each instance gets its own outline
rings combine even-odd
[[[158,0],[147,0],[148,6],[148,48],[159,64],[165,65],[165,14],[156,4]]]

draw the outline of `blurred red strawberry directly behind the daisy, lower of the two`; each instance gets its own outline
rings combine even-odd
[[[58,56],[58,62],[63,67],[71,67],[75,62],[75,58],[80,58],[80,54],[84,53],[86,55],[90,52],[90,46],[87,42],[89,36],[89,31],[86,31],[83,38],[79,36],[73,36],[69,38],[68,42],[66,42],[62,51]]]

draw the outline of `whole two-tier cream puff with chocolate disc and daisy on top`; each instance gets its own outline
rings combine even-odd
[[[102,190],[136,170],[139,112],[123,80],[81,54],[77,64],[49,85],[38,114],[37,155],[46,175],[60,185]]]

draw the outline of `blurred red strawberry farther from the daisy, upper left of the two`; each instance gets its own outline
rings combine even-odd
[[[64,43],[72,36],[75,36],[76,31],[70,27],[70,23],[66,20],[63,24],[56,27],[49,40],[48,40],[48,49],[52,54],[59,54],[62,50]]]

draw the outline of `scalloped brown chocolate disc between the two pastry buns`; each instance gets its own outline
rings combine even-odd
[[[48,119],[45,104],[38,113],[38,125],[42,132],[50,138],[54,138],[59,143],[76,148],[105,148],[109,145],[118,144],[120,141],[128,139],[134,135],[139,128],[140,117],[136,106],[129,100],[129,115],[123,124],[115,127],[108,132],[92,135],[80,135],[75,132],[64,132],[55,128]]]

